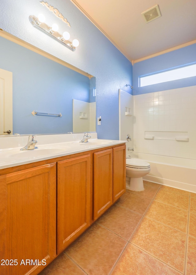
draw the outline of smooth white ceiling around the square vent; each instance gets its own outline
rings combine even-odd
[[[196,0],[71,0],[131,61],[196,43]],[[141,13],[158,4],[161,17]]]

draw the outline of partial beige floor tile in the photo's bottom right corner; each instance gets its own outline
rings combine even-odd
[[[189,236],[186,275],[196,274],[196,239]]]

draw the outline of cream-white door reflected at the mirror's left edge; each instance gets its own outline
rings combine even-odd
[[[12,72],[0,69],[0,135],[13,134]]]

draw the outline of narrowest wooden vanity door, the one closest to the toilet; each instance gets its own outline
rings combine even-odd
[[[113,148],[113,203],[126,191],[126,146]]]

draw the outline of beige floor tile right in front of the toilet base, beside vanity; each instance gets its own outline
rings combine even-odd
[[[133,193],[127,190],[116,204],[144,215],[151,202],[151,199],[140,196],[138,192]]]

